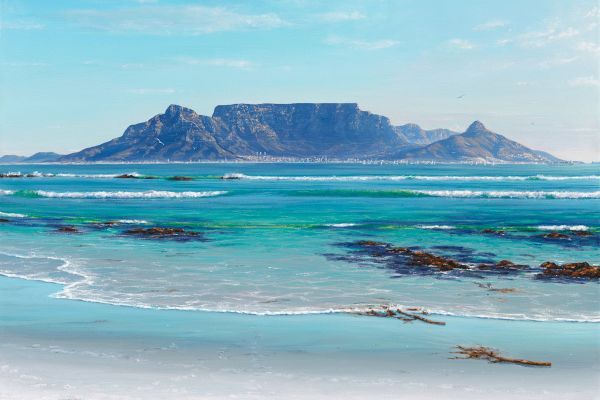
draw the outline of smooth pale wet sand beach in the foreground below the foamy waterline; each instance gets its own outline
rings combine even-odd
[[[148,310],[52,298],[49,283],[2,277],[0,287],[1,398],[593,399],[600,391],[594,323],[445,317],[439,327]],[[452,360],[458,344],[553,365]]]

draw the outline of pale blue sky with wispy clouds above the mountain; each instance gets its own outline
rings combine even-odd
[[[0,154],[179,104],[356,102],[600,161],[596,0],[0,0]]]

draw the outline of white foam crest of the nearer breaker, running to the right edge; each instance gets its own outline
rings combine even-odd
[[[482,197],[514,199],[598,199],[600,191],[559,192],[559,191],[479,191],[479,190],[409,190],[408,192],[434,197]]]

